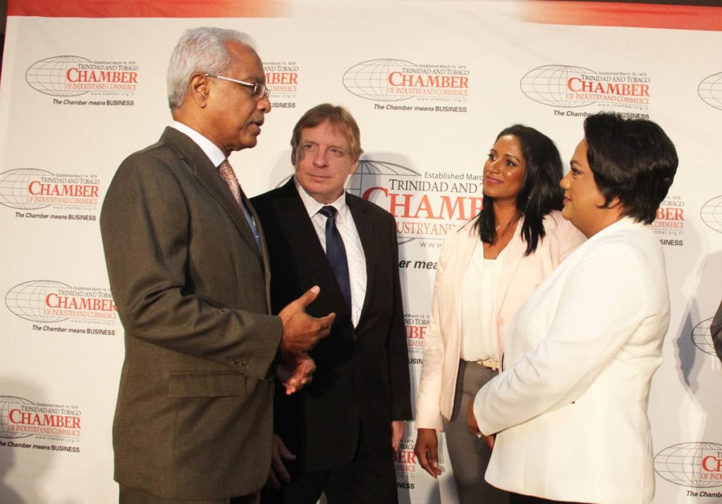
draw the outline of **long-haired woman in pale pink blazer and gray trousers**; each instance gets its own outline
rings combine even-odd
[[[499,368],[508,321],[584,237],[562,219],[562,160],[536,129],[502,131],[484,163],[479,215],[448,233],[436,272],[416,409],[419,464],[433,477],[445,430],[459,499],[507,503],[484,482],[490,450],[466,428],[466,404]]]

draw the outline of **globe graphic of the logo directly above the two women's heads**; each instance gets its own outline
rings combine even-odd
[[[594,100],[574,100],[567,97],[567,82],[573,77],[581,78],[582,74],[596,74],[596,71],[583,66],[545,65],[526,72],[519,82],[521,92],[542,105],[550,107],[586,107]]]

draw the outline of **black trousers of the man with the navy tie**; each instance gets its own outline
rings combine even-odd
[[[372,458],[361,430],[356,456],[349,464],[325,471],[303,471],[297,464],[287,463],[291,481],[282,482],[279,490],[264,489],[261,503],[316,504],[325,493],[328,504],[398,504],[391,425],[388,429],[388,457]]]

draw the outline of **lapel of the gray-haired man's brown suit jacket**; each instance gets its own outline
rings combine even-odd
[[[253,252],[256,255],[261,256],[258,251],[258,245],[256,244],[256,238],[253,236],[251,226],[248,225],[248,221],[245,220],[243,215],[243,209],[238,207],[238,203],[233,198],[233,195],[228,188],[227,183],[219,175],[218,170],[214,167],[211,160],[205,155],[200,147],[193,142],[188,136],[181,133],[177,129],[166,128],[160,137],[162,142],[168,142],[172,145],[175,150],[181,155],[181,158],[188,162],[188,166],[195,173],[196,178],[200,181],[201,185],[218,201],[218,203],[225,209],[231,220],[238,228],[238,232],[243,239],[248,242]],[[258,220],[256,220],[258,222]],[[266,268],[266,271],[268,268]]]

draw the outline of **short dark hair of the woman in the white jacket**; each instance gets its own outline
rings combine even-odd
[[[584,120],[587,162],[604,205],[619,198],[622,214],[651,224],[677,173],[677,149],[658,124],[596,113]]]

